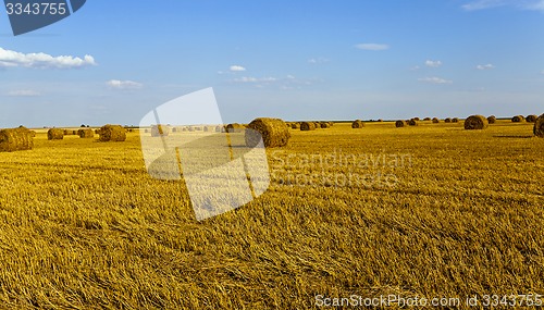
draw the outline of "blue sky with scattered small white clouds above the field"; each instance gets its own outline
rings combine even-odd
[[[138,124],[207,87],[225,122],[536,114],[543,38],[543,0],[89,0],[17,37],[2,10],[0,123]]]

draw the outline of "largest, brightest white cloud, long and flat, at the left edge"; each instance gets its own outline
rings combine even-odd
[[[22,53],[0,48],[0,67],[73,69],[96,65],[95,59],[86,54],[83,59],[72,55],[52,57],[47,53]]]

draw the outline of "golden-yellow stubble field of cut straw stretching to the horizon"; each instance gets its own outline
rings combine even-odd
[[[0,153],[0,307],[544,294],[543,150],[509,121],[292,131],[267,150],[265,194],[197,222],[183,182],[147,174],[137,133],[38,132],[34,150]]]

